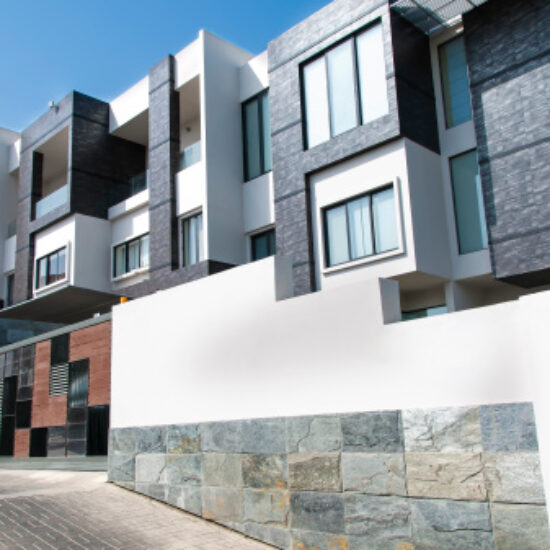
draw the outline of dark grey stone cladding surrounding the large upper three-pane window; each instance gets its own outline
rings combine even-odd
[[[384,34],[388,115],[304,150],[301,64],[376,20]],[[387,1],[335,0],[272,41],[268,58],[277,253],[293,258],[295,292],[304,294],[314,290],[308,175],[402,136],[438,150],[428,41]]]

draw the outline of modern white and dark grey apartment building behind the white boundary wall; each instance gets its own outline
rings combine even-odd
[[[275,250],[296,294],[390,278],[405,317],[544,287],[545,6],[413,4],[332,2],[256,57],[201,31],[3,131],[0,315],[78,321]]]

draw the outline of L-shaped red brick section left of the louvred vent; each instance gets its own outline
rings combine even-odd
[[[67,396],[50,397],[50,341],[38,342],[34,353],[31,426],[62,426],[66,420]]]

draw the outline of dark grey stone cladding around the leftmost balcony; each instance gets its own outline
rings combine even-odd
[[[68,183],[70,202],[33,220],[39,198],[45,142],[63,129],[69,131]],[[34,234],[74,214],[107,217],[109,206],[120,202],[130,177],[145,170],[145,147],[109,134],[109,104],[72,92],[24,130],[21,136],[15,301],[32,295]]]

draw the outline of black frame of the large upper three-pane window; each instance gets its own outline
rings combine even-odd
[[[340,38],[336,42],[332,43],[330,46],[324,48],[320,52],[316,53],[315,55],[309,57],[302,63],[300,63],[299,72],[300,72],[300,110],[302,115],[302,144],[304,150],[308,151],[309,149],[313,149],[317,147],[318,145],[322,145],[324,143],[327,143],[331,139],[334,139],[335,137],[345,134],[346,132],[350,132],[351,130],[355,130],[356,128],[359,128],[360,126],[363,126],[364,124],[369,124],[370,122],[374,122],[374,120],[369,120],[367,122],[363,122],[363,112],[362,112],[362,101],[363,97],[361,94],[361,86],[359,82],[359,56],[358,56],[358,49],[357,49],[357,38],[369,31],[370,29],[376,27],[377,25],[380,25],[382,32],[384,32],[383,29],[383,21],[381,17],[376,18],[374,21],[370,21],[367,25],[361,27],[360,29],[357,29],[356,31],[352,32],[351,34],[348,34],[344,36],[343,38]],[[349,130],[346,130],[344,132],[341,132],[340,134],[333,134],[333,124],[332,124],[332,117],[331,117],[331,107],[330,107],[330,100],[331,100],[331,93],[330,93],[330,83],[329,83],[329,71],[328,71],[328,63],[325,61],[325,75],[326,75],[326,93],[327,93],[327,101],[328,101],[328,124],[329,124],[329,137],[327,140],[322,141],[321,143],[318,143],[317,145],[314,145],[313,147],[310,147],[308,144],[308,118],[307,118],[307,108],[306,108],[306,93],[305,93],[305,76],[304,76],[304,70],[305,68],[310,64],[314,63],[318,59],[324,57],[326,58],[327,55],[334,49],[338,48],[345,42],[351,40],[352,41],[352,55],[353,55],[353,91],[355,96],[355,112],[358,124],[356,126],[353,126]],[[386,60],[386,48],[384,44],[382,44],[383,52],[384,52],[384,63]],[[388,90],[387,90],[387,72],[386,72],[386,98],[388,100],[388,113],[389,113],[389,96],[388,96]],[[386,113],[386,115],[388,114]],[[382,116],[386,116],[382,115]]]

